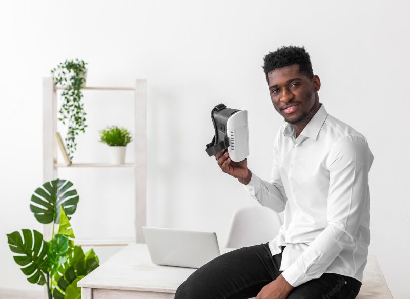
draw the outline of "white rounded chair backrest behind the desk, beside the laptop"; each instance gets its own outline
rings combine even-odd
[[[226,247],[242,248],[267,243],[278,234],[281,225],[279,214],[267,207],[240,208],[232,217]]]

